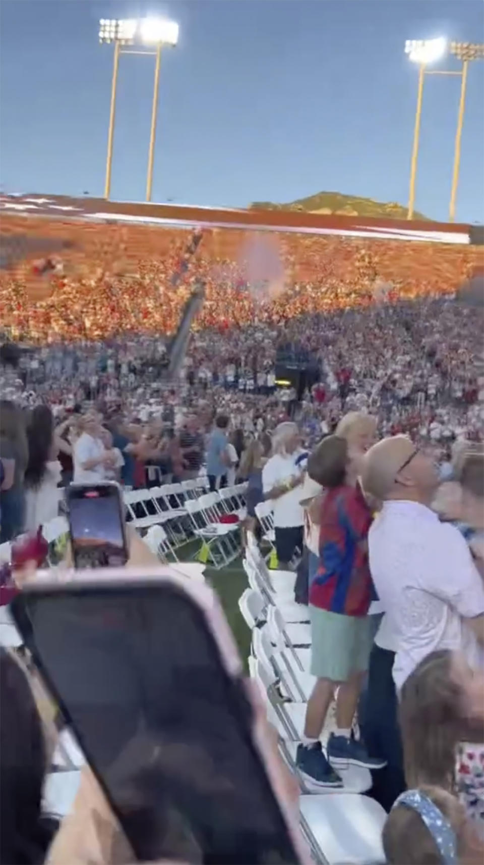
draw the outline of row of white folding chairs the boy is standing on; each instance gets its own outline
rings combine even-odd
[[[252,631],[249,670],[268,720],[277,730],[283,759],[298,779],[301,829],[311,854],[316,862],[383,861],[385,811],[362,795],[372,785],[370,772],[339,766],[343,788],[322,791],[296,766],[315,677],[309,673],[309,613],[294,601],[295,574],[270,571],[250,533],[244,567],[249,585],[239,599],[239,609]],[[323,747],[334,723],[330,712],[322,733]]]

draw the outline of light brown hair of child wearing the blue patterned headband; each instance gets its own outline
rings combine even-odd
[[[468,826],[463,806],[440,787],[423,786],[419,792],[433,802],[455,833],[457,861],[480,862],[482,848]],[[441,865],[443,857],[430,829],[418,811],[404,803],[396,804],[386,818],[382,834],[385,862],[388,865]]]

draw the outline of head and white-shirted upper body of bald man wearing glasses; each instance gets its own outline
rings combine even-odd
[[[368,550],[397,689],[436,649],[461,650],[483,669],[484,586],[461,533],[430,509],[439,480],[432,452],[406,436],[383,439],[366,453],[361,477],[383,502]]]

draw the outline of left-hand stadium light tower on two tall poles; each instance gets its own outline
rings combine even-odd
[[[175,48],[178,42],[179,27],[175,21],[166,18],[129,18],[124,20],[101,18],[99,21],[99,42],[110,45],[114,42],[114,61],[111,82],[111,108],[109,112],[109,131],[107,138],[107,159],[105,171],[105,198],[111,192],[112,143],[114,138],[114,119],[116,115],[116,92],[118,89],[118,66],[120,54],[146,54],[155,56],[155,84],[153,105],[151,107],[150,150],[148,151],[148,171],[146,175],[146,201],[151,201],[153,186],[153,162],[155,157],[156,116],[158,112],[158,91],[160,85],[160,60],[162,46]],[[139,45],[141,50],[132,50]],[[154,50],[153,50],[154,48]]]

